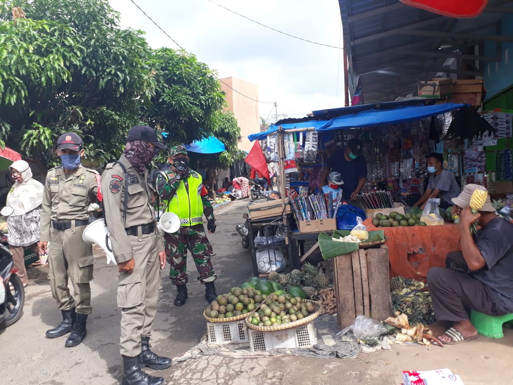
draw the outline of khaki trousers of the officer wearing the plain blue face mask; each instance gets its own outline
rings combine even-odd
[[[75,309],[76,313],[91,314],[91,286],[93,279],[92,245],[82,240],[86,226],[55,230],[50,234],[48,272],[52,296],[59,310]],[[73,296],[68,287],[73,285]]]

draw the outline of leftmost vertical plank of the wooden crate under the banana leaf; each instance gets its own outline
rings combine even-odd
[[[342,330],[353,323],[354,318],[356,318],[350,254],[333,258],[333,278],[337,302],[337,319],[339,329]]]

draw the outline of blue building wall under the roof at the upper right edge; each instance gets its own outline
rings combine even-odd
[[[502,35],[513,36],[513,14],[505,14],[501,24]],[[495,28],[489,32],[495,33]],[[497,44],[501,45],[501,62],[485,63],[483,68],[483,79],[487,90],[486,99],[513,85],[513,42],[485,41],[484,55],[496,56]]]

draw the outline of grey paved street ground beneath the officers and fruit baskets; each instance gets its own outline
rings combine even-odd
[[[234,201],[215,210],[218,228],[209,239],[216,255],[218,293],[229,291],[252,274],[250,253],[242,248],[234,226],[243,222],[247,201]],[[102,252],[95,250],[92,281],[93,313],[88,319],[88,335],[76,348],[65,348],[65,337],[45,338],[45,331],[61,321],[50,292],[44,267],[28,271],[24,315],[16,324],[0,330],[0,383],[30,384],[115,384],[122,375],[119,355],[120,311],[116,307],[116,268],[107,265]],[[190,261],[189,261],[190,262]],[[153,350],[169,357],[182,356],[205,333],[202,312],[207,303],[204,287],[191,273],[186,305],[173,305],[174,287],[162,272],[163,293],[159,300],[152,336]],[[445,348],[392,345],[392,351],[360,353],[359,358],[319,359],[273,356],[233,359],[216,355],[199,356],[149,373],[181,384],[394,384],[401,383],[402,370],[449,368],[466,385],[509,384],[513,376],[513,331],[492,340],[480,337]]]

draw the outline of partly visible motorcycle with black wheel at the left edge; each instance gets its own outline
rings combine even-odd
[[[0,244],[0,328],[11,326],[23,314],[25,288],[16,272],[11,252]]]

